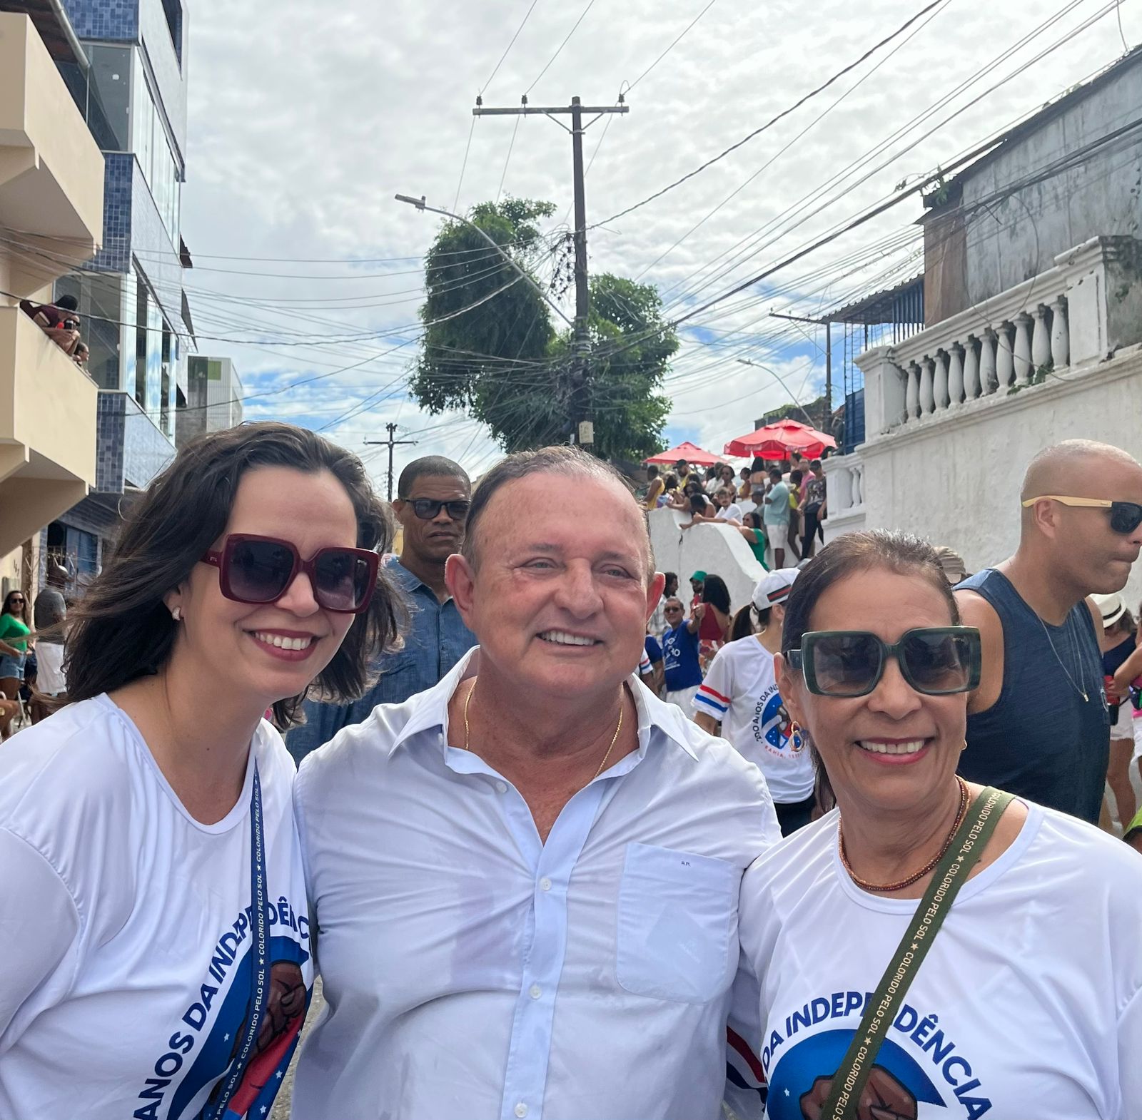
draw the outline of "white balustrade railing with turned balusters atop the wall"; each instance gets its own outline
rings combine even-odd
[[[1142,242],[1096,237],[992,299],[867,350],[868,438],[940,422],[1142,340]]]

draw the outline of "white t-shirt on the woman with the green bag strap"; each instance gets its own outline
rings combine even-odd
[[[900,1005],[874,1073],[885,1117],[1142,1115],[1142,859],[1029,809],[960,889]],[[749,1042],[769,1120],[803,1120],[806,1094],[821,1103],[814,1083],[833,1078],[917,905],[853,884],[836,812],[746,872],[739,928],[761,988]]]

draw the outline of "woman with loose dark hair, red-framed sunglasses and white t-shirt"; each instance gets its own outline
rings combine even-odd
[[[70,703],[0,751],[0,1115],[268,1113],[313,984],[278,728],[393,639],[391,538],[360,460],[284,424],[130,509]]]

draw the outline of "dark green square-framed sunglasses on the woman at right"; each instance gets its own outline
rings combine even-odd
[[[893,645],[868,630],[811,630],[787,660],[819,696],[867,696],[895,658],[900,674],[926,696],[971,692],[980,683],[980,631],[972,626],[908,630]]]

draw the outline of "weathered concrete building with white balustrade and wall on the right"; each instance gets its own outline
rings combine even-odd
[[[1043,446],[1142,458],[1140,105],[1135,50],[930,200],[925,327],[856,360],[866,442],[826,466],[827,538],[910,530],[975,571],[1014,550]],[[1136,606],[1142,573],[1126,595]]]

